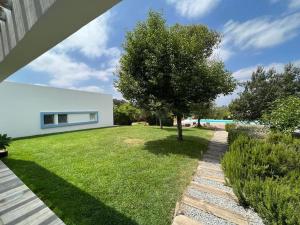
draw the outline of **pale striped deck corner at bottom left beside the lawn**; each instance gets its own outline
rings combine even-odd
[[[0,161],[0,225],[64,223]]]

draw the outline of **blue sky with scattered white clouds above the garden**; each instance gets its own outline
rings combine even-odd
[[[238,81],[257,66],[300,66],[300,0],[123,0],[8,78],[10,81],[122,95],[113,81],[126,32],[163,13],[167,23],[204,24],[222,34],[214,56]],[[218,105],[236,98],[219,96]]]

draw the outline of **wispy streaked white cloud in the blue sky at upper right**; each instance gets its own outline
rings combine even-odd
[[[282,18],[261,17],[246,22],[229,21],[224,26],[224,44],[240,49],[273,47],[300,33],[300,13]]]

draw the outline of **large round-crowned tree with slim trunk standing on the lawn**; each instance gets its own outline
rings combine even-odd
[[[208,102],[231,92],[235,83],[224,64],[209,60],[220,35],[203,25],[167,26],[160,13],[151,11],[127,33],[116,88],[141,108],[161,103],[181,120],[192,104]]]

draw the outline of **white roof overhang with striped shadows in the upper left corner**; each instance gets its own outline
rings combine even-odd
[[[0,11],[0,82],[120,0],[10,0]]]

